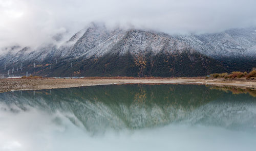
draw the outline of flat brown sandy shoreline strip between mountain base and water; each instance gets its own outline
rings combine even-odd
[[[204,78],[83,78],[83,79],[0,79],[0,92],[42,90],[110,84],[200,84],[239,87],[256,90],[256,80],[224,80]]]

